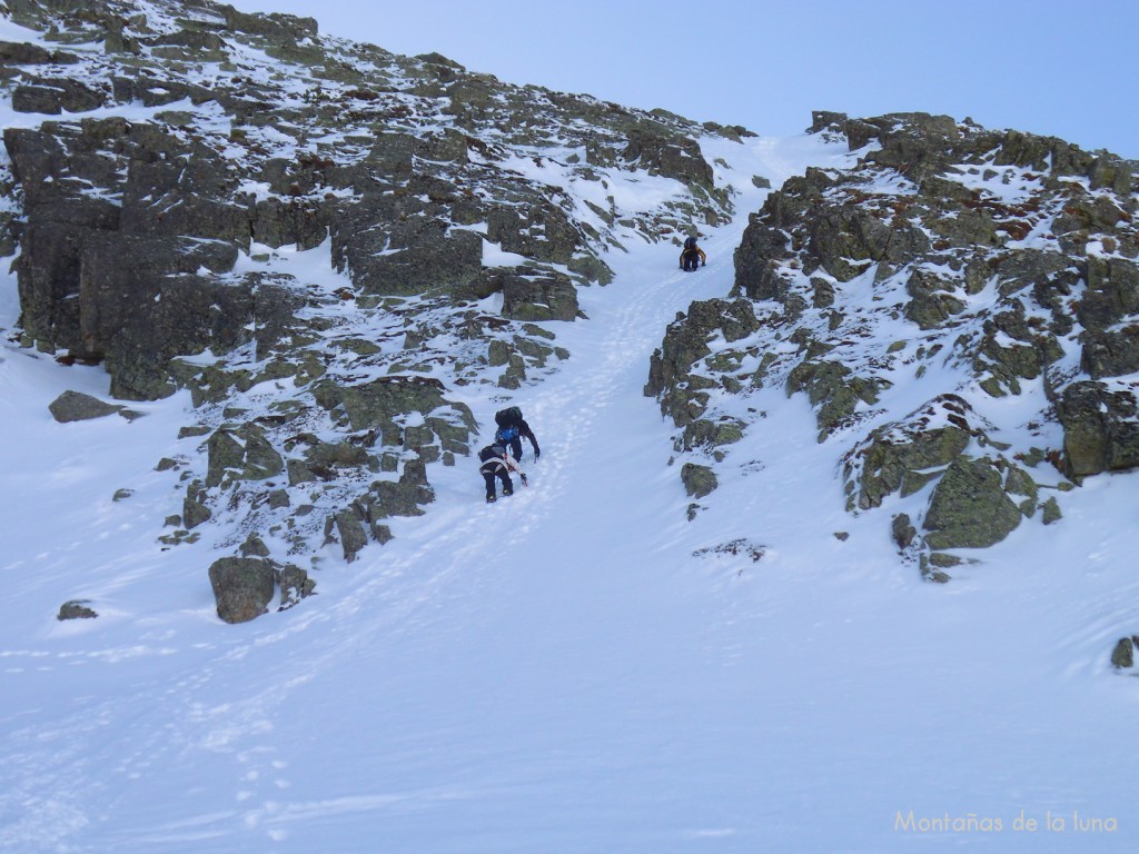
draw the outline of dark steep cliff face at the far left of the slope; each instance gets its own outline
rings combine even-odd
[[[219,182],[227,169],[212,153],[179,156],[170,133],[122,120],[8,129],[5,143],[26,198],[25,332],[106,360],[116,396],[169,394],[173,355],[228,352],[251,325],[276,339],[292,321],[297,305],[282,282],[199,274],[230,271],[248,246],[241,208],[207,195],[233,183]]]

